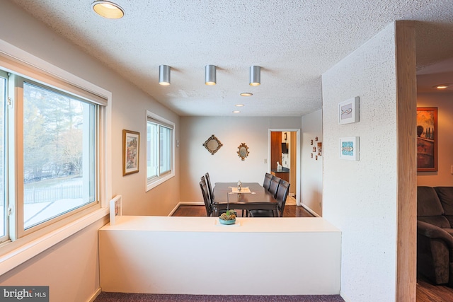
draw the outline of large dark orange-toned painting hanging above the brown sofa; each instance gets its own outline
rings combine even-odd
[[[437,171],[437,108],[417,108],[417,171]]]

